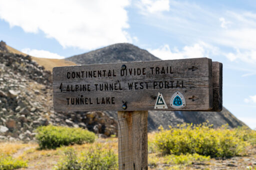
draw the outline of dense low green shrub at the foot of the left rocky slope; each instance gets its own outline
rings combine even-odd
[[[55,149],[72,144],[93,143],[95,134],[81,128],[41,126],[36,129],[40,149]]]

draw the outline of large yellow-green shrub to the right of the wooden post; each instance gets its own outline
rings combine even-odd
[[[247,143],[237,136],[235,130],[226,126],[213,129],[206,124],[182,124],[179,128],[160,128],[155,144],[164,154],[199,154],[214,157],[232,157],[241,154]]]

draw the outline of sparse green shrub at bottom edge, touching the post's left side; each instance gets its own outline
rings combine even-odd
[[[54,170],[116,170],[117,156],[112,150],[103,149],[101,145],[82,152],[79,157],[73,149],[67,149],[65,156]]]

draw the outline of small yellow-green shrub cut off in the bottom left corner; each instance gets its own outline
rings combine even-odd
[[[14,170],[19,168],[26,168],[27,162],[13,159],[10,156],[0,156],[0,170]]]

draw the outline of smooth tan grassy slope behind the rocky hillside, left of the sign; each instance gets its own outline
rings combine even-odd
[[[26,56],[27,54],[22,53],[8,45],[6,45],[6,48],[9,52],[14,53],[14,54],[20,54]],[[64,59],[51,59],[51,58],[37,58],[37,57],[32,57],[32,60],[37,62],[39,65],[43,66],[46,70],[52,71],[53,67],[61,67],[61,66],[70,66],[70,65],[76,65],[72,61],[66,61]]]

